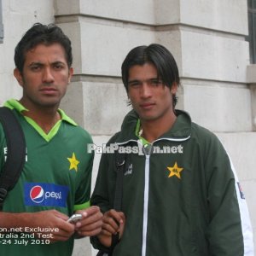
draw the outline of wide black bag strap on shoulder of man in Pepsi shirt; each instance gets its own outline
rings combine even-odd
[[[13,111],[6,107],[0,108],[0,122],[3,126],[8,148],[7,158],[0,175],[0,210],[9,190],[15,187],[20,177],[26,157],[26,143],[20,123]]]

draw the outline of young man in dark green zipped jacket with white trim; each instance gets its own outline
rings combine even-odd
[[[253,256],[247,203],[218,138],[175,109],[179,75],[159,44],[132,49],[122,79],[133,110],[109,148],[126,152],[122,211],[113,209],[115,154],[102,154],[91,202],[104,213],[91,239],[121,256]],[[129,154],[130,153],[130,154]]]

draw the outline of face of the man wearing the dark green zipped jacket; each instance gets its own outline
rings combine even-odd
[[[170,90],[151,63],[135,65],[129,70],[128,96],[142,121],[169,118],[173,113],[172,94],[176,91],[177,84],[173,83]]]

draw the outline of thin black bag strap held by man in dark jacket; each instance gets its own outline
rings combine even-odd
[[[115,157],[115,165],[117,167],[117,177],[115,183],[115,191],[114,191],[114,199],[113,199],[113,209],[116,211],[121,211],[122,208],[122,198],[123,198],[123,177],[125,170],[125,154],[119,153],[119,150],[116,152]],[[119,242],[119,233],[112,236],[111,243],[111,253],[108,255],[112,255],[113,247]]]

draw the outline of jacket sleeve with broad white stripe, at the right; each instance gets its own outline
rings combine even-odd
[[[253,256],[253,232],[247,202],[223,145],[212,137],[205,150],[212,256]]]

